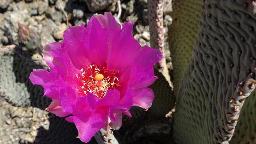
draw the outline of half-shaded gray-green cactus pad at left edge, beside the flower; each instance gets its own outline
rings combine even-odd
[[[36,64],[14,45],[0,49],[0,95],[15,106],[36,106],[44,109],[49,99],[43,98],[41,86],[29,80],[32,69],[43,66]]]

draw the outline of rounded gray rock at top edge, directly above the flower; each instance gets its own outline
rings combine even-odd
[[[97,12],[105,9],[113,0],[83,0],[87,4],[87,7],[90,12]]]

